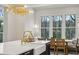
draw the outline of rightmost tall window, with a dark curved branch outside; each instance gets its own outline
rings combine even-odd
[[[73,39],[75,38],[75,23],[76,17],[75,15],[66,15],[66,39]]]

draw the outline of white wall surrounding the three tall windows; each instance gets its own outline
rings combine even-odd
[[[76,20],[78,24],[79,22],[79,7],[60,7],[60,8],[49,8],[49,9],[36,9],[36,14],[35,14],[35,24],[37,24],[39,26],[39,28],[41,27],[41,19],[40,16],[54,16],[54,15],[62,15],[63,19],[65,19],[65,15],[66,14],[76,14]],[[51,19],[51,18],[50,18]],[[65,21],[65,20],[63,20]],[[63,23],[62,26],[64,26],[65,24]],[[52,29],[52,28],[50,28]],[[41,31],[40,29],[38,30],[39,33],[38,35],[41,36]],[[79,29],[76,29],[76,38],[79,36]],[[50,32],[50,37],[52,36],[51,32]],[[65,38],[65,30],[62,29],[62,38]]]

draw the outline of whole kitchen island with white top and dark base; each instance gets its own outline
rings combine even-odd
[[[40,55],[46,52],[46,43],[49,41],[35,41],[21,44],[20,40],[5,42],[4,52],[6,55]]]

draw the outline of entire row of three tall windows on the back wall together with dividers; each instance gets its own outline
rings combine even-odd
[[[66,38],[73,39],[76,35],[76,15],[64,15],[62,16],[42,16],[41,17],[41,37],[56,39]],[[63,25],[63,26],[62,26]],[[51,26],[51,27],[50,27]],[[50,31],[50,32],[49,32]],[[52,36],[53,35],[53,36]]]

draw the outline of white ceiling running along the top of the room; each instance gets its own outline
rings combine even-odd
[[[4,4],[0,6],[8,6],[8,5]],[[24,6],[26,6],[27,8],[44,9],[44,8],[76,7],[76,6],[79,7],[79,4],[26,4]]]

